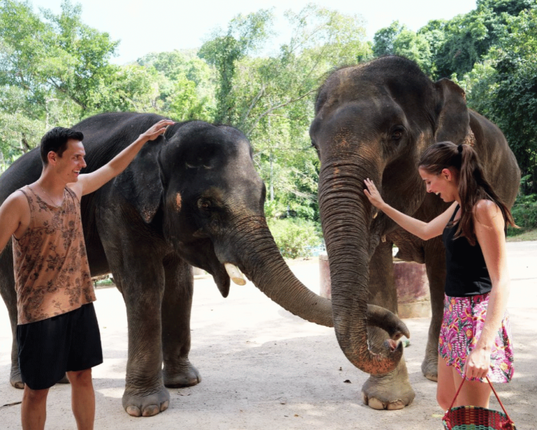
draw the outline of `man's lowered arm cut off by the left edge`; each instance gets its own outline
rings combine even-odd
[[[0,206],[0,254],[13,234],[18,233],[18,237],[22,237],[28,224],[28,202],[20,191],[15,191]]]

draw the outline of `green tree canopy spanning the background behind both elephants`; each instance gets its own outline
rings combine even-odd
[[[473,11],[417,32],[392,22],[366,40],[364,21],[310,4],[287,11],[292,34],[273,46],[274,15],[236,15],[196,50],[110,63],[118,41],[85,25],[69,0],[34,11],[0,0],[0,172],[55,125],[103,111],[155,112],[242,130],[267,184],[266,213],[318,221],[319,162],[308,127],[324,76],[380,55],[403,55],[434,80],[452,78],[468,105],[501,127],[537,193],[537,0],[478,0]],[[271,46],[271,51],[268,51]]]

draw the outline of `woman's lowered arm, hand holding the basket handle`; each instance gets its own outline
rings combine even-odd
[[[475,204],[473,215],[475,236],[478,239],[490,280],[492,290],[485,317],[485,325],[468,355],[464,365],[466,377],[485,377],[490,368],[490,354],[496,334],[506,313],[509,297],[509,272],[507,268],[505,221],[501,210],[490,200],[480,200]]]

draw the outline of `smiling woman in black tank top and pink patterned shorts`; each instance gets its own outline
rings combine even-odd
[[[443,410],[450,408],[465,375],[468,381],[454,406],[488,408],[491,389],[485,376],[492,382],[509,382],[513,376],[506,226],[515,223],[471,146],[434,144],[418,169],[428,193],[453,202],[429,223],[390,207],[370,179],[364,181],[364,193],[373,206],[422,240],[443,236],[447,275],[436,398]]]

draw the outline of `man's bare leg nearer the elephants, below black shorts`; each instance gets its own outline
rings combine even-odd
[[[95,391],[92,369],[67,372],[71,382],[71,406],[78,430],[93,430],[95,421]]]

